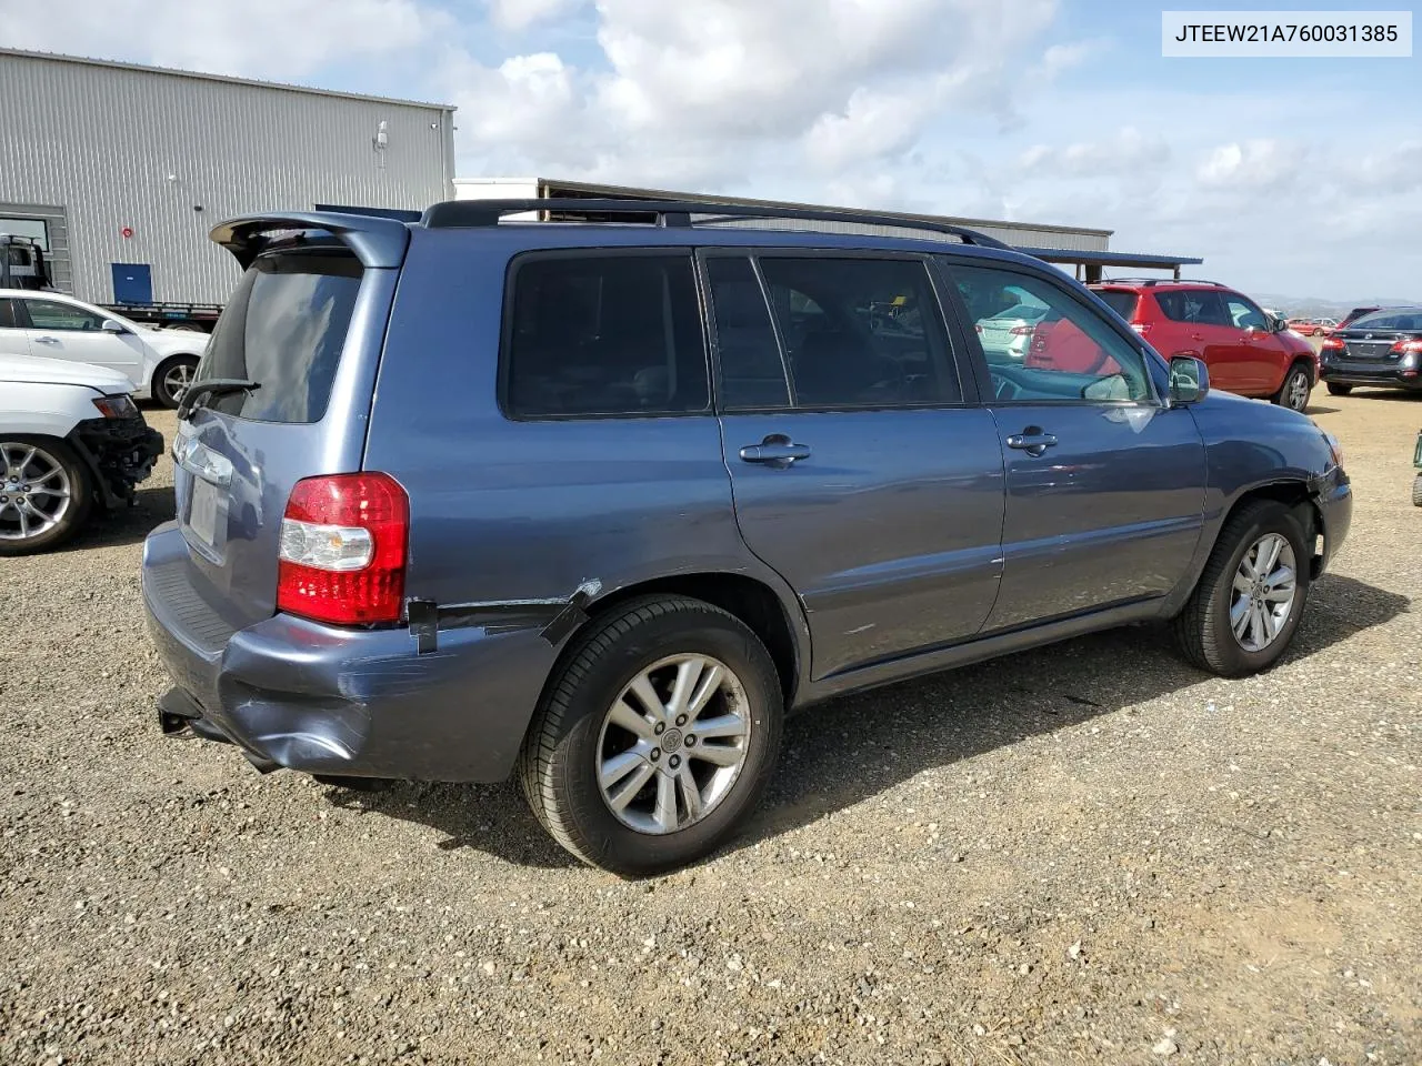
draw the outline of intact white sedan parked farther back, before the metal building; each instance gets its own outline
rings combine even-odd
[[[139,399],[168,408],[208,348],[208,334],[149,330],[63,293],[0,289],[0,355],[74,360],[117,370]]]

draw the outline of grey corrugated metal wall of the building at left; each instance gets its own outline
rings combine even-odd
[[[111,263],[148,263],[155,300],[223,303],[237,269],[208,240],[212,226],[316,203],[424,209],[448,199],[451,118],[432,107],[0,53],[0,202],[64,209],[80,298],[112,298]]]

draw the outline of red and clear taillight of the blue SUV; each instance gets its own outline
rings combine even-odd
[[[337,624],[400,620],[410,497],[388,473],[306,478],[282,519],[279,611]]]

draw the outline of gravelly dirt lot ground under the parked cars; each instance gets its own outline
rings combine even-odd
[[[0,1062],[1416,1063],[1422,402],[1313,414],[1357,517],[1273,674],[1133,630],[845,699],[656,883],[570,864],[512,786],[161,738],[164,466],[0,561]]]

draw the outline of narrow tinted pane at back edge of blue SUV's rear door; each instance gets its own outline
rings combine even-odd
[[[721,364],[721,405],[727,411],[788,407],[781,345],[751,260],[714,256],[707,260],[707,279]]]

